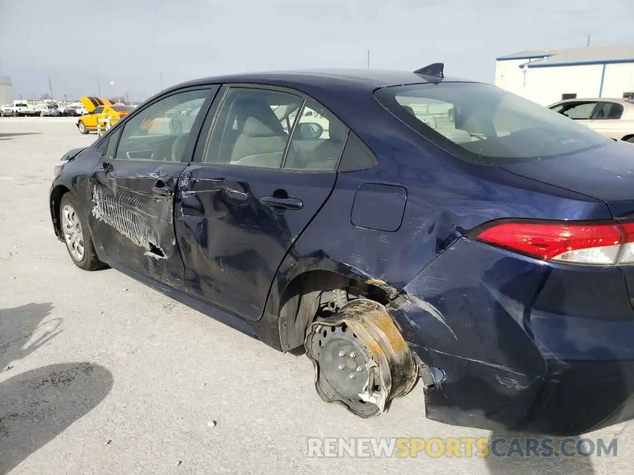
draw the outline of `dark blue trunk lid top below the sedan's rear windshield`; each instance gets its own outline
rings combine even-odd
[[[566,156],[501,168],[605,201],[615,218],[634,217],[634,144],[611,141]]]

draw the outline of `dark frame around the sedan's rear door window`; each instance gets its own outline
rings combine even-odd
[[[253,167],[252,165],[236,165],[235,163],[217,163],[217,162],[205,162],[205,156],[207,154],[207,148],[209,147],[209,141],[211,139],[211,133],[214,130],[214,127],[216,127],[216,122],[217,122],[217,118],[220,114],[220,110],[223,107],[226,99],[227,99],[227,95],[229,93],[229,91],[231,89],[264,89],[265,91],[276,91],[276,92],[285,92],[287,94],[292,94],[294,96],[298,96],[299,98],[301,98],[302,101],[302,105],[299,108],[299,110],[301,110],[304,105],[306,104],[307,101],[314,101],[315,103],[319,104],[321,107],[325,108],[326,110],[328,110],[328,112],[330,112],[334,117],[336,117],[342,124],[344,124],[346,126],[347,132],[346,132],[346,141],[344,141],[344,146],[342,148],[341,153],[339,154],[339,159],[337,160],[337,165],[335,168],[333,168],[332,170],[310,170],[310,169],[293,169],[293,168],[283,168],[283,164],[286,162],[286,156],[288,153],[288,148],[290,147],[290,142],[292,141],[292,132],[294,132],[295,130],[295,126],[298,123],[299,120],[299,115],[298,117],[295,119],[295,122],[293,124],[293,130],[292,132],[290,132],[290,134],[288,134],[288,142],[287,142],[287,146],[285,148],[284,151],[284,155],[282,156],[282,161],[280,163],[280,167],[276,167],[276,168],[270,168],[270,167]],[[337,173],[338,169],[339,169],[339,162],[341,160],[341,156],[343,155],[343,150],[346,148],[346,143],[347,143],[347,137],[349,136],[351,127],[349,127],[349,125],[346,124],[346,122],[344,122],[343,120],[341,120],[341,118],[333,113],[332,110],[330,110],[330,108],[326,107],[325,105],[323,105],[321,103],[321,101],[318,101],[317,99],[313,98],[312,96],[310,96],[309,94],[306,94],[305,92],[299,91],[298,89],[294,89],[292,87],[285,87],[285,86],[279,86],[279,85],[272,85],[272,84],[261,84],[261,83],[251,83],[251,82],[226,82],[223,83],[223,85],[221,86],[221,88],[219,89],[219,92],[222,91],[222,94],[218,94],[216,93],[216,98],[213,101],[212,106],[209,108],[209,110],[207,111],[207,115],[205,116],[205,120],[203,123],[203,129],[205,128],[205,124],[209,123],[209,125],[207,125],[207,132],[205,132],[206,136],[205,136],[205,140],[201,141],[200,139],[202,138],[202,134],[203,134],[203,130],[200,131],[200,136],[198,138],[196,147],[194,149],[194,153],[193,153],[193,158],[192,158],[192,162],[191,163],[195,163],[196,165],[205,165],[206,167],[212,166],[212,167],[221,167],[221,168],[233,168],[235,170],[263,170],[263,171],[279,171],[279,172],[284,172],[284,173],[304,173],[304,174],[312,174],[312,173],[319,173],[319,174],[324,174],[324,173]],[[212,114],[211,119],[209,120],[209,116]],[[198,146],[198,144],[202,144],[200,147]],[[353,170],[346,170],[346,171],[353,171]]]

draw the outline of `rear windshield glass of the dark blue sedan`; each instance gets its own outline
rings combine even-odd
[[[574,120],[490,84],[385,87],[375,97],[422,136],[481,165],[540,160],[610,142]]]

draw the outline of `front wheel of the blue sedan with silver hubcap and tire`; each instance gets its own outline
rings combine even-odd
[[[103,263],[94,251],[90,229],[81,215],[75,197],[67,193],[60,202],[60,224],[68,255],[79,269],[97,270]]]

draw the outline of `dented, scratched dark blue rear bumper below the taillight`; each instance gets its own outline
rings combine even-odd
[[[616,268],[553,266],[459,239],[392,305],[445,381],[427,417],[581,434],[634,417],[634,310]]]

